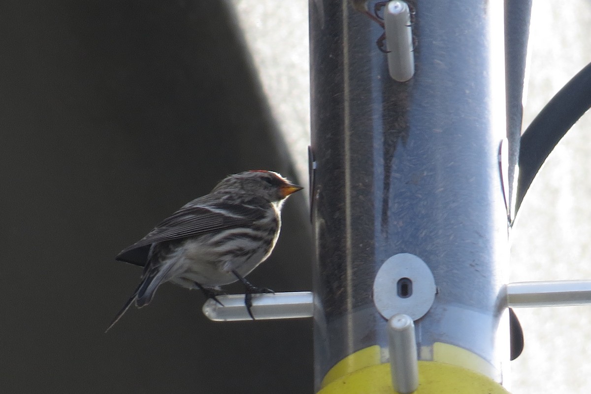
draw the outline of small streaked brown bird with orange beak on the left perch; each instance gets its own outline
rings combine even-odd
[[[272,290],[253,286],[245,276],[271,254],[281,230],[282,205],[301,189],[277,172],[250,170],[225,177],[209,194],[164,219],[115,258],[144,266],[144,272],[106,331],[132,303],[148,305],[165,282],[200,289],[221,304],[216,298],[220,286],[239,281],[254,319],[252,294]]]

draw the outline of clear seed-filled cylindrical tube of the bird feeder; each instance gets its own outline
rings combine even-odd
[[[310,1],[316,389],[358,361],[387,361],[372,286],[399,253],[420,257],[438,290],[415,321],[419,360],[500,383],[509,350],[503,3],[408,2],[408,82],[389,77],[376,45],[384,29],[368,15],[374,3],[367,12],[362,3]],[[349,358],[372,348],[372,361]]]

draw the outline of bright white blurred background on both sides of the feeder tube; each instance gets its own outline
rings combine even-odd
[[[308,2],[232,0],[272,111],[301,179],[310,136]],[[524,125],[591,62],[591,2],[534,0]],[[524,130],[525,130],[524,127]],[[512,232],[511,282],[591,279],[591,118],[551,154]],[[525,350],[511,392],[591,390],[591,306],[518,309]]]

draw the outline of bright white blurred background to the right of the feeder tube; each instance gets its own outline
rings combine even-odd
[[[534,0],[524,125],[591,62],[591,2]],[[512,234],[511,281],[591,279],[591,117],[585,114],[546,160]],[[512,392],[591,390],[591,306],[517,310],[525,350]]]

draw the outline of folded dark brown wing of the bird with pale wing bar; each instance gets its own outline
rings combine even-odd
[[[115,259],[144,266],[151,244],[241,227],[264,216],[265,209],[262,206],[230,202],[217,202],[208,206],[190,203],[164,219],[144,238],[126,247]]]

